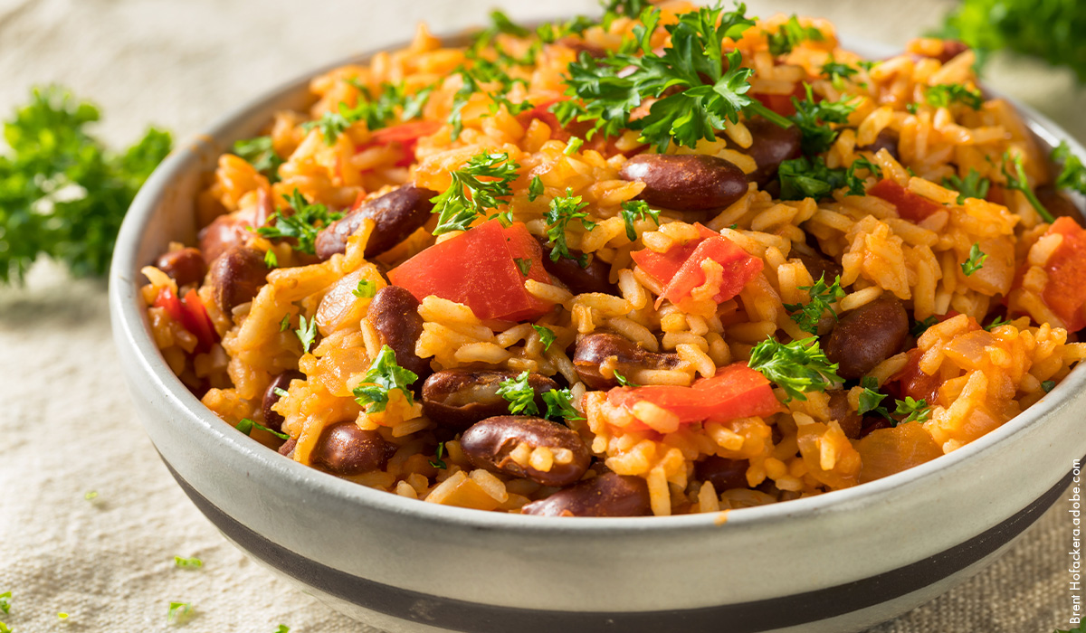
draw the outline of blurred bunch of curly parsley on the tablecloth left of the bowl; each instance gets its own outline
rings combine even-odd
[[[112,152],[87,131],[99,118],[89,101],[54,86],[35,88],[4,123],[0,283],[22,283],[42,255],[77,277],[109,269],[125,212],[172,141],[152,127],[126,151]]]

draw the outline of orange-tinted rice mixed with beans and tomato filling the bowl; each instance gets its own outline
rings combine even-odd
[[[661,23],[691,9],[665,2]],[[831,81],[821,76],[823,64],[831,58],[854,64],[856,55],[838,48],[832,25],[801,18],[823,38],[774,56],[768,37],[785,21],[759,21],[723,48],[740,51],[753,69],[752,93],[787,99],[808,81],[818,99],[847,100],[853,111],[846,124],[834,126],[822,157],[842,172],[873,165],[857,180],[867,195],[838,188],[820,200],[779,200],[774,186],[750,181],[719,207],[684,211],[654,202],[651,213],[634,212],[654,190],[623,177],[631,156],[712,156],[755,175],[763,166],[748,150],[759,141],[760,123],[744,115],[693,147],[660,149],[646,148],[636,130],[605,138],[589,135],[581,123],[563,126],[546,106],[566,92],[563,76],[579,47],[615,50],[632,36],[633,20],[542,45],[525,64],[493,62],[507,64],[507,103],[483,91],[458,97],[465,81],[458,68],[473,63],[470,53],[444,47],[420,27],[403,50],[315,77],[306,111],[275,115],[266,130],[282,161],[275,178],[233,154],[218,160],[195,205],[201,226],[216,223],[202,248],[210,248],[207,241],[250,249],[278,267],[260,270],[242,301],[224,300],[220,261],[205,278],[185,282],[171,269],[146,267],[141,295],[155,344],[205,406],[227,423],[253,420],[258,427],[252,436],[290,458],[390,494],[488,511],[536,511],[532,504],[559,490],[573,494],[579,482],[619,477],[644,493],[644,514],[721,512],[841,490],[912,465],[874,451],[872,433],[892,438],[901,454],[924,458],[960,448],[1045,397],[1086,357],[1086,344],[1069,334],[1086,326],[1086,315],[1082,306],[1063,306],[1059,292],[1071,283],[1062,268],[1068,253],[1086,238],[1077,225],[1045,223],[1026,197],[1006,187],[1005,152],[1021,157],[1033,186],[1052,179],[1010,104],[988,100],[974,111],[926,100],[933,86],[975,88],[971,51],[944,63],[937,59],[942,42],[918,40],[907,54]],[[532,46],[531,38],[495,37],[510,54],[528,55]],[[651,43],[664,48],[668,38],[657,29]],[[484,54],[500,58],[488,46]],[[344,118],[330,140],[320,125],[311,125],[339,112],[340,103],[365,104],[400,83],[407,93],[427,91],[413,121],[369,129],[366,117]],[[483,84],[491,93],[501,88]],[[522,102],[531,107],[515,112]],[[454,109],[456,130],[450,124]],[[262,218],[286,210],[283,197],[295,192],[342,212],[406,183],[440,193],[479,154],[506,154],[517,168],[500,197],[502,216],[493,220],[505,242],[475,252],[476,258],[505,249],[520,277],[481,282],[473,294],[416,296],[407,281],[388,287],[413,257],[434,246],[454,253],[481,235],[485,217],[434,236],[439,219],[421,214],[421,223],[369,256],[370,244],[388,230],[383,216],[359,221],[353,235],[341,236],[342,249],[325,256],[302,252],[298,236],[249,230],[254,223],[268,226]],[[988,179],[1000,195],[959,202],[950,182],[971,174]],[[875,195],[875,187],[896,187],[899,202]],[[567,197],[580,197],[584,219],[556,228],[553,201]],[[526,239],[515,241],[517,236]],[[730,255],[686,266],[707,246]],[[984,258],[967,271],[974,249]],[[445,257],[425,273],[452,269],[455,257]],[[737,263],[753,268],[743,277]],[[819,297],[816,281],[824,271],[831,286],[837,268],[842,294]],[[414,299],[389,299],[397,289]],[[819,322],[804,325],[801,308],[817,299],[825,309],[815,315]],[[492,309],[512,301],[518,311]],[[864,324],[864,314],[886,304],[900,306],[912,332],[898,332],[901,344],[862,374],[883,393],[923,400],[915,420],[893,414],[893,428],[854,428],[851,416],[835,419],[834,412],[844,396],[856,413],[870,381],[861,387],[859,376],[848,376],[805,393],[806,400],[788,398],[747,367],[752,351],[768,339],[821,336],[829,349],[831,332],[854,320],[874,338],[884,325]],[[993,327],[996,316],[1008,321]],[[868,336],[864,330],[854,344],[866,344]],[[386,346],[404,369],[405,358],[417,360],[409,371],[415,379],[381,374],[377,362]],[[838,369],[853,360],[850,352],[833,352]],[[729,395],[734,383],[715,379],[744,368],[752,372],[747,380],[761,381],[760,393],[773,398],[772,409],[691,413],[714,397],[724,398],[729,404],[719,406],[725,409],[743,408],[743,394]],[[442,392],[451,376],[476,382]],[[400,388],[396,379],[408,383]],[[509,390],[520,380],[531,392],[521,392],[513,412],[506,402],[516,401]],[[893,412],[896,397],[887,397],[883,404]],[[451,421],[447,409],[464,414],[494,402],[488,417],[517,413],[563,421],[553,429],[565,443],[514,432],[516,441],[501,455],[481,457],[464,434],[479,420]],[[559,414],[552,410],[555,402],[568,406]],[[372,464],[358,470],[328,451],[329,434],[344,428],[338,425],[353,425],[350,432],[365,439],[358,442],[381,447]],[[735,477],[727,485],[709,481],[703,470],[712,464]],[[550,479],[569,472],[568,481]]]

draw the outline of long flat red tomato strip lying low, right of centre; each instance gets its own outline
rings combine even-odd
[[[715,376],[698,379],[692,387],[616,387],[607,392],[607,400],[613,406],[627,408],[647,401],[679,416],[680,423],[723,423],[782,410],[769,380],[746,363],[721,367]]]

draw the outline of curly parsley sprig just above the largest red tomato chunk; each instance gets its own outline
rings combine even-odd
[[[443,193],[430,200],[431,213],[438,214],[433,235],[467,230],[488,208],[508,203],[510,185],[517,179],[520,165],[509,154],[485,152],[476,154],[463,167],[452,172],[453,181]]]

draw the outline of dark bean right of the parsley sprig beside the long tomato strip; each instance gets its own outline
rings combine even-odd
[[[905,306],[896,296],[883,294],[841,317],[826,341],[825,355],[838,365],[838,376],[858,380],[900,352],[908,337]]]

